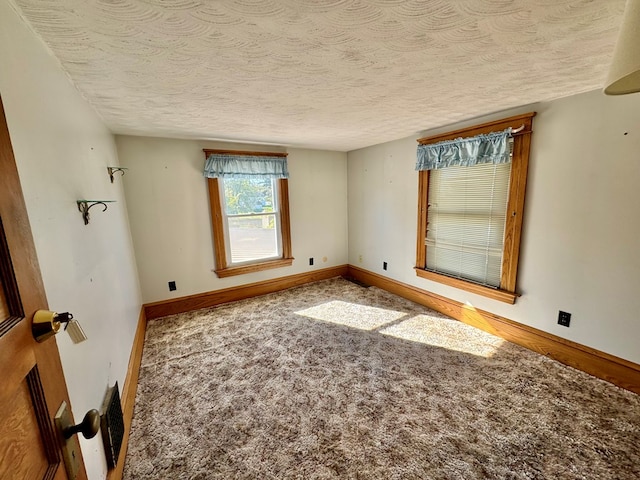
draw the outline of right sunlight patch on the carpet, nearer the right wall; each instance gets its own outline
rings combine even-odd
[[[380,333],[485,358],[493,356],[504,343],[504,340],[495,335],[469,327],[457,320],[433,318],[428,315],[416,315],[385,327]]]

